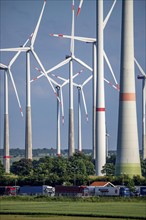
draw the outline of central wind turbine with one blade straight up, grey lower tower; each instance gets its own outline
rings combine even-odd
[[[74,0],[72,0],[72,37],[74,37]],[[68,146],[69,146],[69,157],[74,153],[74,108],[73,108],[73,61],[79,63],[80,65],[84,66],[88,70],[92,71],[92,68],[77,58],[74,54],[74,38],[71,39],[70,45],[70,56],[66,56],[66,60],[60,62],[56,66],[52,67],[48,71],[47,74],[51,73],[52,71],[66,65],[69,63],[69,135],[68,135]],[[43,74],[40,74],[38,78],[42,77]]]

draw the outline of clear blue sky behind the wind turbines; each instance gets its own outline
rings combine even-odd
[[[111,0],[104,1],[104,17],[107,15]],[[118,0],[111,18],[104,31],[104,48],[110,59],[111,65],[119,82],[120,74],[120,44],[121,44],[121,0]],[[28,36],[34,31],[40,11],[42,0],[0,0],[0,48],[18,47],[22,45]],[[75,0],[75,10],[79,0]],[[95,0],[85,0],[79,17],[75,18],[75,35],[95,37]],[[58,64],[70,54],[70,40],[50,37],[50,33],[71,33],[71,0],[47,0],[41,25],[35,41],[35,51],[40,57],[46,70]],[[146,71],[146,1],[134,1],[134,36],[135,57]],[[15,53],[1,53],[0,62],[8,64]],[[92,47],[90,44],[75,42],[75,55],[92,66]],[[31,77],[38,75],[31,59]],[[81,70],[82,66],[74,64],[74,74]],[[12,73],[19,92],[23,112],[25,114],[25,76],[26,64],[25,53],[21,54],[12,66]],[[53,72],[54,74],[68,78],[68,65]],[[82,84],[90,76],[88,70],[75,79]],[[135,68],[135,75],[139,71]],[[113,82],[110,71],[105,64],[105,78]],[[3,146],[3,97],[4,97],[4,74],[0,73],[0,147]],[[136,80],[138,129],[141,147],[141,85]],[[92,148],[92,82],[84,88],[89,122],[86,117],[82,103],[82,135],[83,148]],[[64,87],[65,124],[61,125],[61,148],[68,145],[68,86]],[[106,94],[106,124],[110,134],[109,149],[116,149],[117,126],[118,126],[118,92],[105,84]],[[33,148],[56,147],[56,98],[47,80],[42,77],[32,84],[32,129]],[[75,146],[77,148],[77,90],[74,89],[75,110]],[[25,117],[21,118],[17,106],[16,97],[9,80],[9,118],[10,118],[10,148],[24,148],[25,145]]]

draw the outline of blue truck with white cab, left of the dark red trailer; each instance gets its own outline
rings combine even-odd
[[[54,196],[55,188],[52,186],[21,186],[18,192],[19,195],[47,195]]]

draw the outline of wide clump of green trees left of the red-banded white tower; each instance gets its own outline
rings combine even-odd
[[[72,157],[43,157],[39,160],[21,159],[14,162],[11,172],[18,175],[18,185],[85,185],[94,174],[90,156],[75,153]]]

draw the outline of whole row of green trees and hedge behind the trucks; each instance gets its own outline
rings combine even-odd
[[[142,177],[132,179],[123,174],[114,176],[116,155],[107,158],[104,176],[95,176],[95,161],[91,156],[75,153],[70,158],[45,156],[39,160],[21,159],[13,162],[10,174],[0,163],[0,185],[90,185],[93,181],[110,181],[115,185],[146,185],[146,160],[141,160]]]

